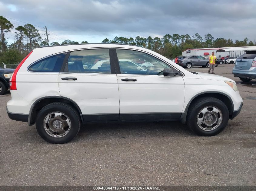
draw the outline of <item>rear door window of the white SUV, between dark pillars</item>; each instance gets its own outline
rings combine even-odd
[[[68,72],[111,74],[109,50],[79,50],[70,53]]]

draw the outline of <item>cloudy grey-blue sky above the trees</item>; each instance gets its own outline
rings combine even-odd
[[[162,38],[174,33],[256,41],[256,0],[0,0],[0,15],[9,17],[14,28],[25,23],[46,25],[50,42],[59,43],[63,39],[101,43],[115,36]],[[45,30],[41,27],[36,28]],[[7,34],[12,41],[15,33]]]

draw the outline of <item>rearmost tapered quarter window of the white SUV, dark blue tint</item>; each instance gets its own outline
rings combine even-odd
[[[60,72],[66,53],[42,59],[28,68],[31,72]]]

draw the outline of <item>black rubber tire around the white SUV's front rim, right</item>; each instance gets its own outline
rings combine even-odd
[[[201,110],[206,107],[216,107],[222,113],[222,121],[220,124],[216,127],[216,129],[209,131],[203,130],[202,127],[198,125],[197,121],[197,117],[201,115]],[[186,123],[192,131],[200,136],[213,136],[223,131],[228,124],[228,119],[229,111],[225,103],[215,97],[201,97],[193,101],[193,103],[189,106]]]

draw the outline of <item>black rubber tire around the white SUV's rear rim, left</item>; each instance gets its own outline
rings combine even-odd
[[[45,119],[52,112],[61,112],[68,117],[70,121],[70,130],[63,137],[53,137],[45,129]],[[60,102],[50,103],[43,107],[36,117],[36,129],[38,134],[47,142],[62,144],[71,141],[79,132],[81,127],[81,118],[79,113],[70,105]]]

